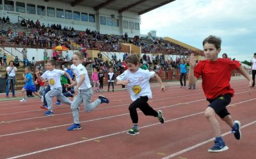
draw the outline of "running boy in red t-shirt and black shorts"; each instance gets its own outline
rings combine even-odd
[[[241,123],[233,121],[227,110],[227,105],[234,96],[234,89],[230,87],[231,70],[239,71],[252,87],[252,79],[244,70],[239,61],[230,61],[218,58],[221,51],[221,39],[216,36],[208,36],[203,42],[205,60],[195,63],[195,56],[191,54],[189,62],[189,84],[195,84],[196,80],[202,76],[202,87],[210,103],[205,110],[205,117],[209,121],[215,135],[214,146],[208,149],[209,153],[225,151],[228,147],[221,137],[220,125],[215,114],[221,117],[231,128],[237,140],[242,137]]]

